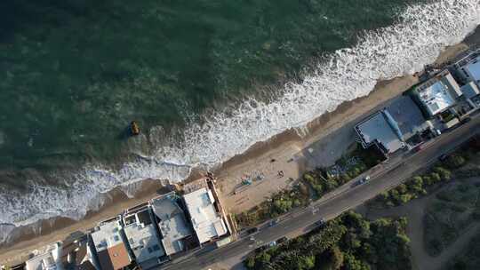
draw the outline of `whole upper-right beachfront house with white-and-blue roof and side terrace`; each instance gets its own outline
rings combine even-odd
[[[443,113],[457,104],[463,93],[447,69],[412,90],[413,97],[428,117]]]

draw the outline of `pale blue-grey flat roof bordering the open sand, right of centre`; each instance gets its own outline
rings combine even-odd
[[[356,131],[366,145],[369,146],[375,142],[380,143],[388,153],[393,153],[404,147],[404,143],[398,138],[381,111],[358,123]]]

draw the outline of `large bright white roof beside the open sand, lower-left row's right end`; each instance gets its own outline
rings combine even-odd
[[[198,240],[201,243],[213,237],[227,234],[223,219],[215,210],[212,191],[207,187],[200,188],[183,196],[192,220]]]

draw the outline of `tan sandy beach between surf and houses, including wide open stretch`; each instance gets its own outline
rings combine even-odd
[[[448,47],[436,60],[436,64],[451,60],[470,44],[478,44],[480,30],[455,46]],[[222,202],[230,212],[240,212],[265,200],[265,197],[284,187],[288,179],[297,179],[308,168],[329,165],[337,160],[354,141],[353,125],[365,114],[375,110],[418,82],[414,75],[405,75],[377,83],[366,97],[341,104],[332,113],[325,114],[308,123],[304,131],[284,131],[266,142],[259,142],[243,155],[236,155],[223,163],[214,172],[219,179]],[[275,162],[272,162],[272,160]],[[279,179],[277,171],[284,171]],[[265,177],[259,187],[244,190],[236,195],[233,191],[244,175],[261,173]],[[36,250],[52,242],[60,241],[76,231],[85,231],[99,221],[116,216],[122,210],[143,203],[161,193],[161,181],[145,180],[135,194],[128,198],[120,189],[105,195],[104,207],[91,211],[82,220],[53,218],[41,224],[15,229],[12,241],[0,247],[0,264],[12,264],[26,258]]]

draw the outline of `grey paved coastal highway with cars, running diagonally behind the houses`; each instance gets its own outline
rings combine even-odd
[[[334,218],[345,210],[355,208],[372,197],[379,195],[390,187],[396,187],[415,171],[434,163],[443,154],[451,152],[460,144],[474,135],[479,127],[480,118],[475,117],[470,122],[461,125],[455,130],[448,131],[429,141],[417,153],[406,153],[382,163],[380,170],[371,174],[371,180],[363,185],[354,187],[352,181],[340,187],[340,192],[331,195],[326,200],[317,201],[304,209],[287,213],[275,226],[261,226],[256,234],[241,238],[236,242],[216,250],[199,250],[188,257],[173,260],[161,269],[204,269],[214,263],[227,261],[228,265],[241,263],[242,258],[255,248],[275,241],[292,233],[307,233],[313,224],[320,218]]]

